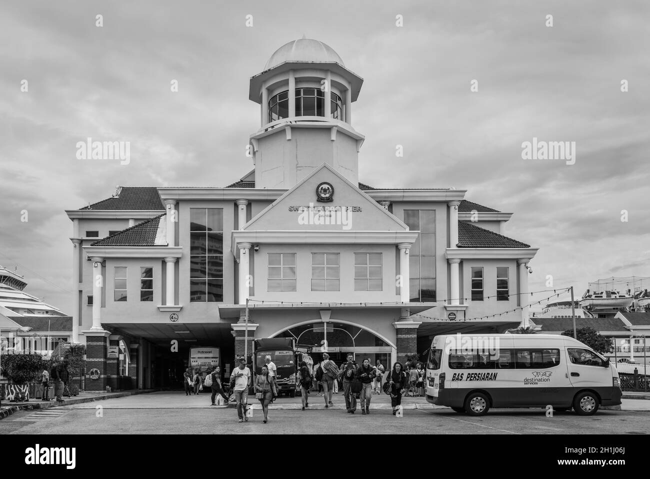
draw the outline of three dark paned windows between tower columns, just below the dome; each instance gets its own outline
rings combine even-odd
[[[343,101],[330,92],[331,118],[341,120]],[[318,88],[296,89],[295,116],[325,116],[325,93]],[[283,91],[268,100],[268,121],[274,122],[289,117],[289,91]]]

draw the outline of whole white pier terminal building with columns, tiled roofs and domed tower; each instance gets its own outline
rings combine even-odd
[[[250,78],[250,172],[227,186],[123,186],[66,211],[73,338],[95,370],[86,389],[173,385],[192,346],[220,348],[227,372],[247,299],[248,338],[295,338],[315,361],[325,347],[392,364],[437,334],[527,322],[537,249],[503,235],[512,213],[462,189],[359,181],[362,84],[326,44],[289,42]]]

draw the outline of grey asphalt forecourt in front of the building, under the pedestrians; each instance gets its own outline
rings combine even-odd
[[[387,396],[373,396],[370,415],[346,413],[343,396],[334,407],[310,398],[302,411],[300,398],[279,398],[263,424],[259,402],[250,398],[252,418],[239,423],[233,407],[210,406],[209,396],[157,392],[85,404],[64,405],[42,411],[18,411],[0,420],[0,434],[233,434],[233,433],[337,433],[337,434],[603,434],[650,433],[650,402],[624,400],[623,410],[601,410],[592,417],[544,409],[491,409],[486,416],[457,414],[434,407],[423,398],[404,398],[402,417],[393,416]],[[636,405],[642,403],[642,405]]]

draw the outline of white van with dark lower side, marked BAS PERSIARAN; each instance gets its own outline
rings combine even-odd
[[[547,407],[592,415],[621,404],[609,359],[560,335],[435,336],[426,400],[474,416],[490,407]]]

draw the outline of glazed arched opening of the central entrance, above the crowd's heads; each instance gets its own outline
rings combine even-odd
[[[322,361],[324,352],[337,364],[343,363],[348,353],[354,355],[357,363],[369,358],[370,364],[379,360],[384,367],[396,357],[395,344],[387,338],[361,325],[338,320],[296,323],[270,337],[293,338],[296,344],[311,347],[314,363]]]

